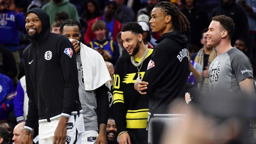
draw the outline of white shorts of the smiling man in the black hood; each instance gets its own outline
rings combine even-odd
[[[54,133],[58,126],[59,118],[51,122],[39,123],[39,143],[53,143]],[[82,133],[84,133],[83,114],[70,115],[67,122],[66,144],[82,143]]]

